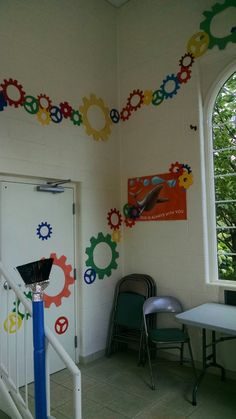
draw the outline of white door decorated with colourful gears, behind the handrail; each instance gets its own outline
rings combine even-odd
[[[45,323],[54,331],[68,354],[75,360],[73,188],[65,188],[62,193],[49,193],[37,191],[36,185],[33,184],[1,182],[0,193],[1,260],[12,272],[16,282],[21,283],[26,296],[30,298],[29,289],[24,287],[15,267],[41,258],[54,259],[49,278],[50,285],[45,290]],[[6,291],[1,288],[0,292]],[[9,315],[16,312],[15,301],[8,299],[7,305]],[[21,306],[18,305],[17,313],[22,318],[25,317],[22,322],[24,329],[27,316]],[[14,330],[9,330],[8,323],[2,316],[0,313],[1,333],[6,333],[7,339],[12,340],[14,346]],[[11,321],[9,324],[11,325]],[[17,335],[20,340],[21,333]],[[17,346],[21,351],[23,342],[21,345],[19,341]],[[27,332],[27,347],[31,346],[30,330]],[[12,357],[11,362],[14,363],[14,353]],[[64,365],[53,352],[50,354],[50,371],[55,372],[61,368],[64,368]],[[29,371],[29,381],[32,379],[33,371]]]

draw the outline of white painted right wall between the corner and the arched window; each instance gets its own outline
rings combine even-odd
[[[133,0],[119,10],[121,108],[133,89],[156,90],[167,75],[179,71],[187,42],[205,19],[203,11],[211,10],[215,3]],[[229,14],[225,18],[232,23]],[[132,229],[125,230],[124,240],[125,273],[135,270],[150,274],[156,279],[159,294],[175,295],[185,308],[223,298],[222,290],[206,284],[202,209],[205,174],[200,133],[204,129],[202,105],[208,91],[233,59],[235,44],[228,44],[223,50],[218,47],[208,50],[195,60],[191,80],[176,96],[157,107],[143,106],[122,124],[123,203],[127,202],[128,178],[166,173],[176,161],[192,168],[194,184],[187,191],[187,221],[137,222]],[[190,124],[197,125],[198,130],[191,130]],[[195,358],[200,360],[200,331],[192,329],[191,335]],[[232,370],[236,370],[235,357],[230,356],[235,344],[234,341],[219,348],[220,359]]]

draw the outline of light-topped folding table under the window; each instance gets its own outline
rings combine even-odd
[[[189,326],[202,329],[202,372],[197,378],[192,393],[192,404],[197,404],[197,390],[205,375],[206,369],[214,366],[221,369],[221,379],[225,379],[225,370],[216,361],[216,345],[219,342],[236,338],[236,306],[219,303],[206,303],[183,313],[177,314],[176,319]],[[211,331],[211,342],[207,344],[206,330]],[[230,336],[216,339],[216,332]],[[208,349],[211,352],[208,354]]]

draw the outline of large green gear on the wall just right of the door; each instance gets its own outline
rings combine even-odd
[[[97,238],[92,237],[90,239],[90,243],[91,246],[87,247],[85,250],[85,253],[87,253],[88,255],[86,266],[89,266],[92,269],[94,269],[97,272],[99,279],[103,279],[104,276],[111,276],[112,269],[117,269],[118,266],[116,263],[116,259],[119,257],[119,253],[116,251],[117,244],[112,241],[110,234],[104,236],[101,232],[98,233]],[[94,262],[94,250],[99,243],[106,243],[111,249],[111,261],[105,268],[99,268],[99,266],[97,266]]]

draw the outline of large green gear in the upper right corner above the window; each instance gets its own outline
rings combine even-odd
[[[236,32],[232,31],[229,35],[225,36],[224,38],[217,38],[212,35],[211,33],[211,24],[212,20],[216,15],[223,12],[224,10],[228,9],[228,7],[236,7],[235,0],[225,0],[223,4],[216,3],[211,11],[203,12],[205,16],[205,20],[201,22],[200,28],[205,31],[209,36],[209,45],[208,48],[211,49],[215,45],[218,45],[219,49],[224,49],[228,42],[236,42]]]

